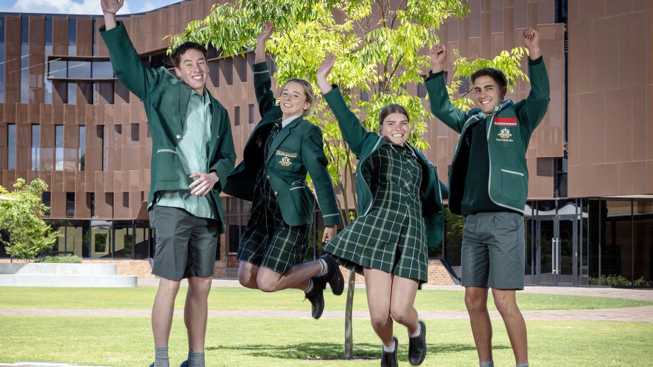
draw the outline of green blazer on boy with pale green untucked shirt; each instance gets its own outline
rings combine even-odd
[[[155,193],[161,190],[177,190],[187,178],[180,175],[180,161],[176,152],[182,138],[191,88],[183,84],[165,67],[143,67],[123,22],[114,29],[100,27],[100,35],[109,50],[111,65],[120,84],[136,95],[145,106],[148,128],[152,138],[151,181],[148,207]],[[208,201],[219,214],[221,231],[225,223],[220,202],[222,185],[227,174],[234,168],[236,152],[231,136],[231,122],[227,110],[209,93],[211,98],[211,139],[206,146],[208,172],[215,172],[219,182],[208,193]]]

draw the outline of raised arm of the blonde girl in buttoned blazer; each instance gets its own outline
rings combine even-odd
[[[272,87],[272,79],[270,78],[270,69],[268,63],[265,61],[265,42],[270,39],[274,31],[274,24],[265,22],[259,37],[256,39],[256,51],[254,56],[254,65],[252,71],[254,74],[254,92],[256,93],[256,101],[259,104],[259,113],[261,117],[276,106],[276,99],[274,93],[270,89]]]

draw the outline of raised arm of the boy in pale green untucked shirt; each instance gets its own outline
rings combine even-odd
[[[125,25],[116,20],[116,12],[124,2],[125,0],[101,0],[104,25],[100,27],[100,36],[109,50],[109,59],[118,82],[142,100],[159,84],[165,69],[143,67],[129,40]]]

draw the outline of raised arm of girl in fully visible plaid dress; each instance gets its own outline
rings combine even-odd
[[[317,85],[328,105],[333,110],[334,115],[336,115],[336,120],[338,120],[338,125],[340,125],[342,138],[347,142],[347,144],[349,144],[351,152],[358,157],[365,139],[370,135],[376,134],[365,131],[365,129],[360,126],[360,120],[358,120],[356,115],[349,109],[349,106],[347,106],[347,103],[345,103],[340,88],[334,88],[334,86],[329,84],[328,74],[331,72],[331,69],[333,69],[335,62],[336,57],[333,54],[328,54],[327,57],[325,57],[324,61],[322,61],[322,65],[317,69]]]

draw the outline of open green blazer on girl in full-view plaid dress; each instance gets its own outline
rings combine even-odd
[[[334,87],[324,95],[324,98],[338,119],[343,139],[349,144],[351,152],[358,159],[356,167],[356,195],[360,212],[358,215],[367,215],[372,209],[372,190],[368,182],[370,182],[369,175],[373,170],[369,158],[380,146],[390,143],[383,138],[383,135],[379,136],[377,133],[366,131],[360,126],[360,121],[345,103],[340,88]],[[422,199],[422,217],[426,227],[426,242],[428,247],[435,247],[442,240],[444,227],[442,195],[446,195],[447,187],[439,181],[438,172],[433,163],[424,157],[418,149],[410,144],[408,146],[415,152],[417,161],[422,167],[420,197]]]

